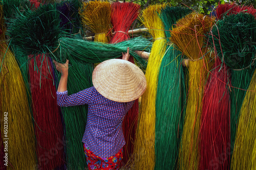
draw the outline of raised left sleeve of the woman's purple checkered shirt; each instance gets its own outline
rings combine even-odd
[[[68,95],[68,91],[56,92],[57,105],[61,107],[90,104],[94,100],[94,90],[92,87]]]

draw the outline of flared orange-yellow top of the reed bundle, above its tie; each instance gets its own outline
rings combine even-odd
[[[215,17],[191,13],[177,21],[171,32],[170,41],[174,42],[189,60],[197,60],[208,54],[205,37]]]

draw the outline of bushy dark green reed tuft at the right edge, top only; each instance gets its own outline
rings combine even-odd
[[[229,15],[212,28],[218,56],[232,69],[252,66],[256,54],[256,21],[253,15]],[[209,35],[211,36],[211,35]]]

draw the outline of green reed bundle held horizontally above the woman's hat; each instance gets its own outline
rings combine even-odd
[[[146,60],[139,57],[134,51],[149,52],[152,43],[142,37],[131,38],[126,41],[115,44],[106,44],[94,41],[86,41],[76,38],[60,38],[59,49],[52,55],[52,58],[57,61],[65,62],[69,56],[74,57],[77,61],[88,63],[99,63],[108,59],[118,58],[121,53],[127,51],[130,47],[130,54],[135,57],[138,65],[145,70]]]

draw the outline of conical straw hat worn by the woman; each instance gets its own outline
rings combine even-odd
[[[146,90],[146,78],[130,61],[111,59],[98,64],[93,71],[93,85],[106,99],[131,102]]]

